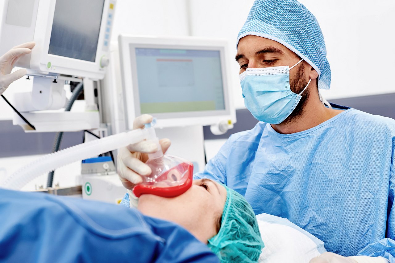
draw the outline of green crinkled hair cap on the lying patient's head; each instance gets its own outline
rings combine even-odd
[[[256,216],[245,198],[226,187],[226,201],[218,234],[208,246],[223,262],[256,262],[264,247]]]

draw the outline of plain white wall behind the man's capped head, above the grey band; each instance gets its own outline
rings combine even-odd
[[[224,37],[234,61],[237,33],[253,0],[190,0],[191,32],[197,36]],[[389,76],[395,70],[395,1],[300,0],[316,16],[324,33],[332,68],[327,99],[394,92]],[[233,97],[244,108],[239,68],[232,62]]]

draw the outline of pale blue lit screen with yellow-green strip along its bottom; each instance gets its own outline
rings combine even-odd
[[[130,52],[135,53],[141,114],[225,109],[219,50],[131,45]]]

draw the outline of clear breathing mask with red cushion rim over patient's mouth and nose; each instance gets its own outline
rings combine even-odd
[[[154,194],[162,197],[175,197],[183,194],[192,186],[194,166],[179,157],[164,155],[148,160],[152,173],[143,176],[143,183],[133,188],[136,197]]]

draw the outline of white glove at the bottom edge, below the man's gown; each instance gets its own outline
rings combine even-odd
[[[343,257],[331,252],[325,252],[310,260],[310,263],[387,263],[384,257]]]

